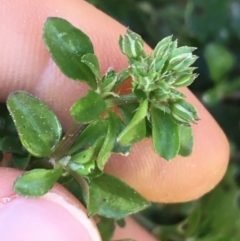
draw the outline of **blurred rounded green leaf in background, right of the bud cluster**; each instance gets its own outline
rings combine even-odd
[[[208,44],[204,55],[210,76],[215,82],[223,80],[226,74],[234,67],[234,57],[232,53],[220,44]]]

